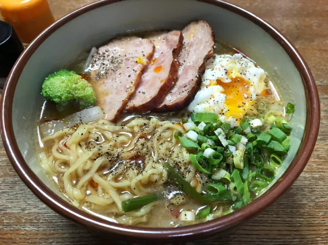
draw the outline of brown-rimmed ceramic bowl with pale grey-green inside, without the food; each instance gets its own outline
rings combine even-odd
[[[43,99],[44,78],[86,50],[117,33],[140,29],[181,29],[205,19],[216,38],[255,60],[296,104],[292,147],[279,181],[239,211],[198,225],[172,229],[124,226],[71,206],[48,180],[37,158],[35,126]],[[315,146],[320,105],[308,65],[295,47],[264,20],[216,0],[103,0],[61,18],[40,34],[14,65],[1,100],[1,131],[8,157],[24,183],[54,211],[93,230],[124,239],[172,241],[221,234],[268,208],[299,176]]]

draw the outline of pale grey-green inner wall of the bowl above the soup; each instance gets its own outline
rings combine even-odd
[[[261,66],[280,88],[285,103],[293,102],[291,150],[276,179],[291,164],[303,137],[306,99],[302,78],[280,44],[252,21],[211,4],[190,0],[127,0],[87,11],[52,33],[35,50],[20,74],[12,104],[14,135],[32,171],[52,191],[60,195],[40,167],[36,123],[43,97],[45,77],[72,62],[81,51],[132,30],[182,29],[196,19],[213,27],[216,39],[242,50]]]

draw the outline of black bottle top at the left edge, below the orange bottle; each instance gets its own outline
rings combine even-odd
[[[23,50],[23,44],[13,27],[0,20],[0,78],[9,75],[12,66]]]

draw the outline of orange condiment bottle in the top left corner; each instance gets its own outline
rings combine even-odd
[[[30,43],[55,21],[47,0],[0,0],[0,11],[23,43]]]

